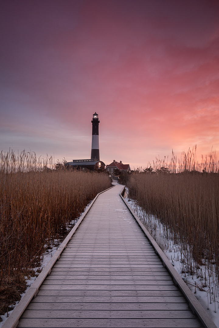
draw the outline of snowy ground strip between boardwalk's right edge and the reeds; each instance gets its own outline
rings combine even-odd
[[[218,285],[215,283],[215,276],[210,277],[206,267],[200,266],[196,269],[196,273],[191,275],[184,272],[183,267],[183,254],[180,252],[179,245],[175,244],[171,239],[164,236],[163,225],[154,216],[146,217],[141,208],[136,205],[136,202],[124,198],[127,204],[135,211],[136,215],[140,218],[146,229],[151,236],[156,240],[157,244],[163,250],[169,261],[174,266],[175,270],[179,273],[180,277],[187,283],[187,286],[194,293],[195,297],[201,303],[203,308],[207,311],[209,317],[214,321],[215,325],[219,328],[219,294]],[[186,254],[188,256],[188,254]],[[190,257],[190,261],[192,259]],[[192,263],[194,265],[194,263]],[[186,271],[186,270],[185,270]]]

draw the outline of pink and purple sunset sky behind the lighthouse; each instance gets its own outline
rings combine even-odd
[[[0,4],[0,150],[146,167],[219,151],[219,2]]]

